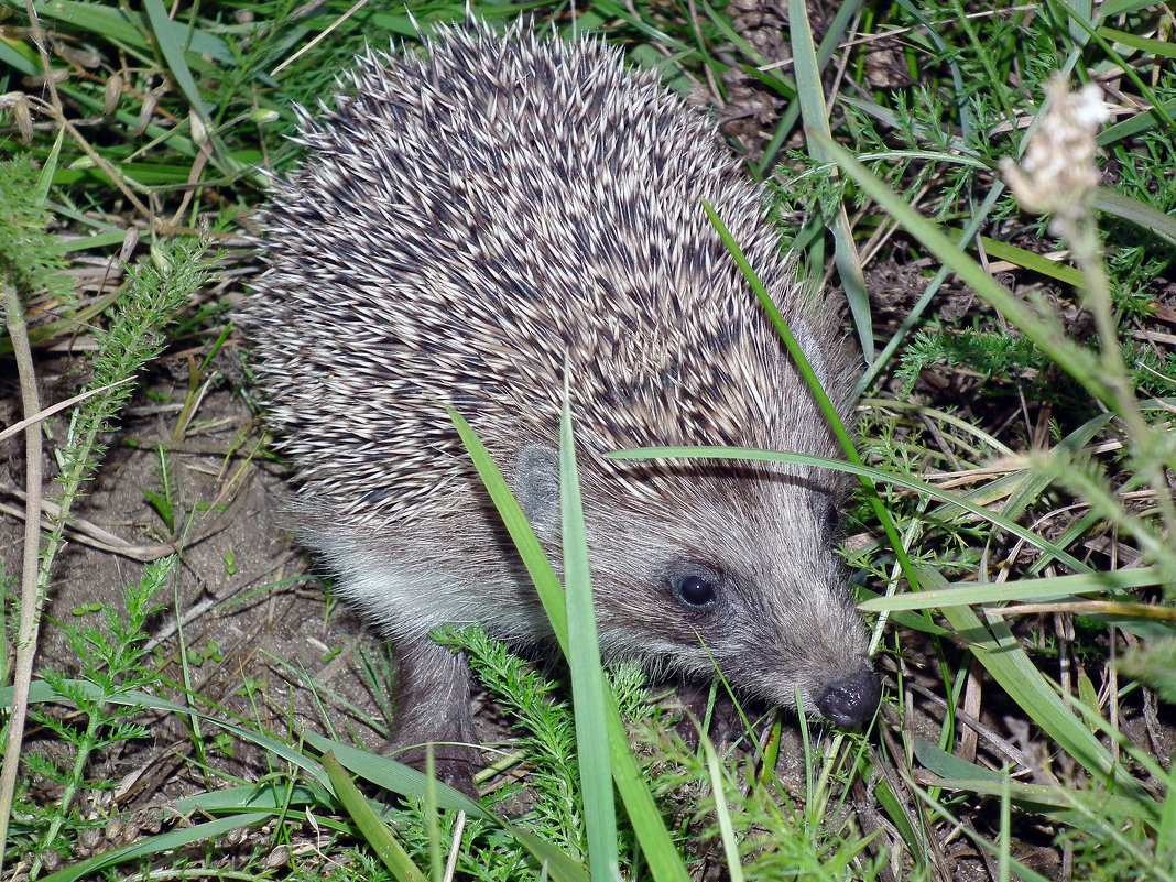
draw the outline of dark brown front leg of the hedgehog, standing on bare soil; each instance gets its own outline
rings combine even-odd
[[[426,635],[399,641],[396,656],[396,728],[393,744],[407,748],[396,759],[425,769],[426,744],[433,743],[440,781],[477,800],[474,773],[480,751],[469,708],[466,656],[437,646]]]

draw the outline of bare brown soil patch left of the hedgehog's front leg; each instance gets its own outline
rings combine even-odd
[[[230,350],[222,358],[236,354]],[[72,539],[54,567],[38,669],[75,671],[76,655],[59,626],[96,622],[98,612],[79,615],[87,604],[120,608],[123,587],[142,577],[143,560],[178,547],[182,553],[171,587],[174,594],[156,597],[165,609],[152,620],[153,643],[166,662],[167,676],[176,683],[185,680],[179,664],[182,635],[192,693],[226,710],[275,731],[288,730],[290,724],[322,730],[320,711],[300,682],[306,676],[322,687],[328,707],[341,708],[338,696],[369,709],[382,726],[379,704],[363,687],[354,653],[358,643],[374,647],[375,641],[346,610],[328,614],[327,597],[308,575],[308,560],[287,541],[276,520],[281,468],[265,460],[246,461],[259,430],[239,389],[228,383],[212,389],[183,441],[173,443],[172,430],[187,388],[166,374],[169,367],[183,370],[185,366],[183,360],[165,358],[153,369],[149,397],[136,396],[111,439],[89,495],[74,509],[80,523],[71,529]],[[53,367],[52,361],[41,361],[46,373],[52,374]],[[55,395],[47,397],[52,401]],[[64,430],[60,421],[53,427],[58,437]],[[174,536],[167,535],[163,519],[145,497],[145,490],[162,492],[160,445],[166,449]],[[54,489],[47,486],[46,492]],[[101,547],[95,547],[81,535],[82,530],[95,533],[91,527],[113,540],[103,537],[96,543]],[[0,524],[0,557],[9,574],[19,572],[21,530],[22,523],[12,516]],[[245,681],[256,687],[252,696],[242,689]],[[348,711],[343,716],[361,741],[380,746],[379,729]],[[188,791],[166,774],[165,767],[182,768],[174,751],[183,753],[185,742],[191,749],[192,741],[188,734],[169,731],[172,726],[178,727],[178,721],[154,730],[151,744],[131,742],[147,756],[136,757],[129,769],[142,774],[123,797],[125,808]],[[131,744],[127,749],[133,749]],[[165,759],[169,756],[173,760]],[[233,760],[226,770],[248,774],[250,757]]]

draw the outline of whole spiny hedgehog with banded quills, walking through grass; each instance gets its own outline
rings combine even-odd
[[[739,446],[836,456],[714,206],[844,410],[835,309],[806,296],[717,126],[600,39],[439,27],[368,51],[263,213],[246,301],[289,513],[336,590],[393,644],[395,741],[436,743],[472,790],[470,675],[430,640],[550,626],[446,407],[506,476],[559,569],[563,376],[601,650],[683,683],[849,727],[880,687],[834,550],[843,481],[616,450]],[[417,757],[420,754],[417,754]]]

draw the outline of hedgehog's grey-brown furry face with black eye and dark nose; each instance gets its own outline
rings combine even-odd
[[[681,472],[659,480],[660,505],[633,497],[621,517],[614,488],[607,519],[586,493],[606,652],[699,677],[717,666],[747,693],[788,707],[799,694],[840,726],[869,719],[878,684],[821,480]]]

